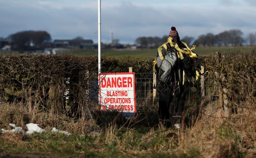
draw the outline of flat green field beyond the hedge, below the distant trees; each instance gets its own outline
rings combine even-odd
[[[230,53],[234,51],[252,51],[256,49],[255,46],[236,46],[236,47],[197,47],[194,51],[198,55],[209,55],[215,53],[216,51],[220,51],[222,53]],[[101,54],[107,56],[116,56],[116,57],[156,57],[157,48],[155,49],[136,49],[136,50],[106,50],[102,49]],[[90,49],[78,49],[71,50],[67,53],[87,56],[87,55],[98,55],[98,50],[90,50]]]

